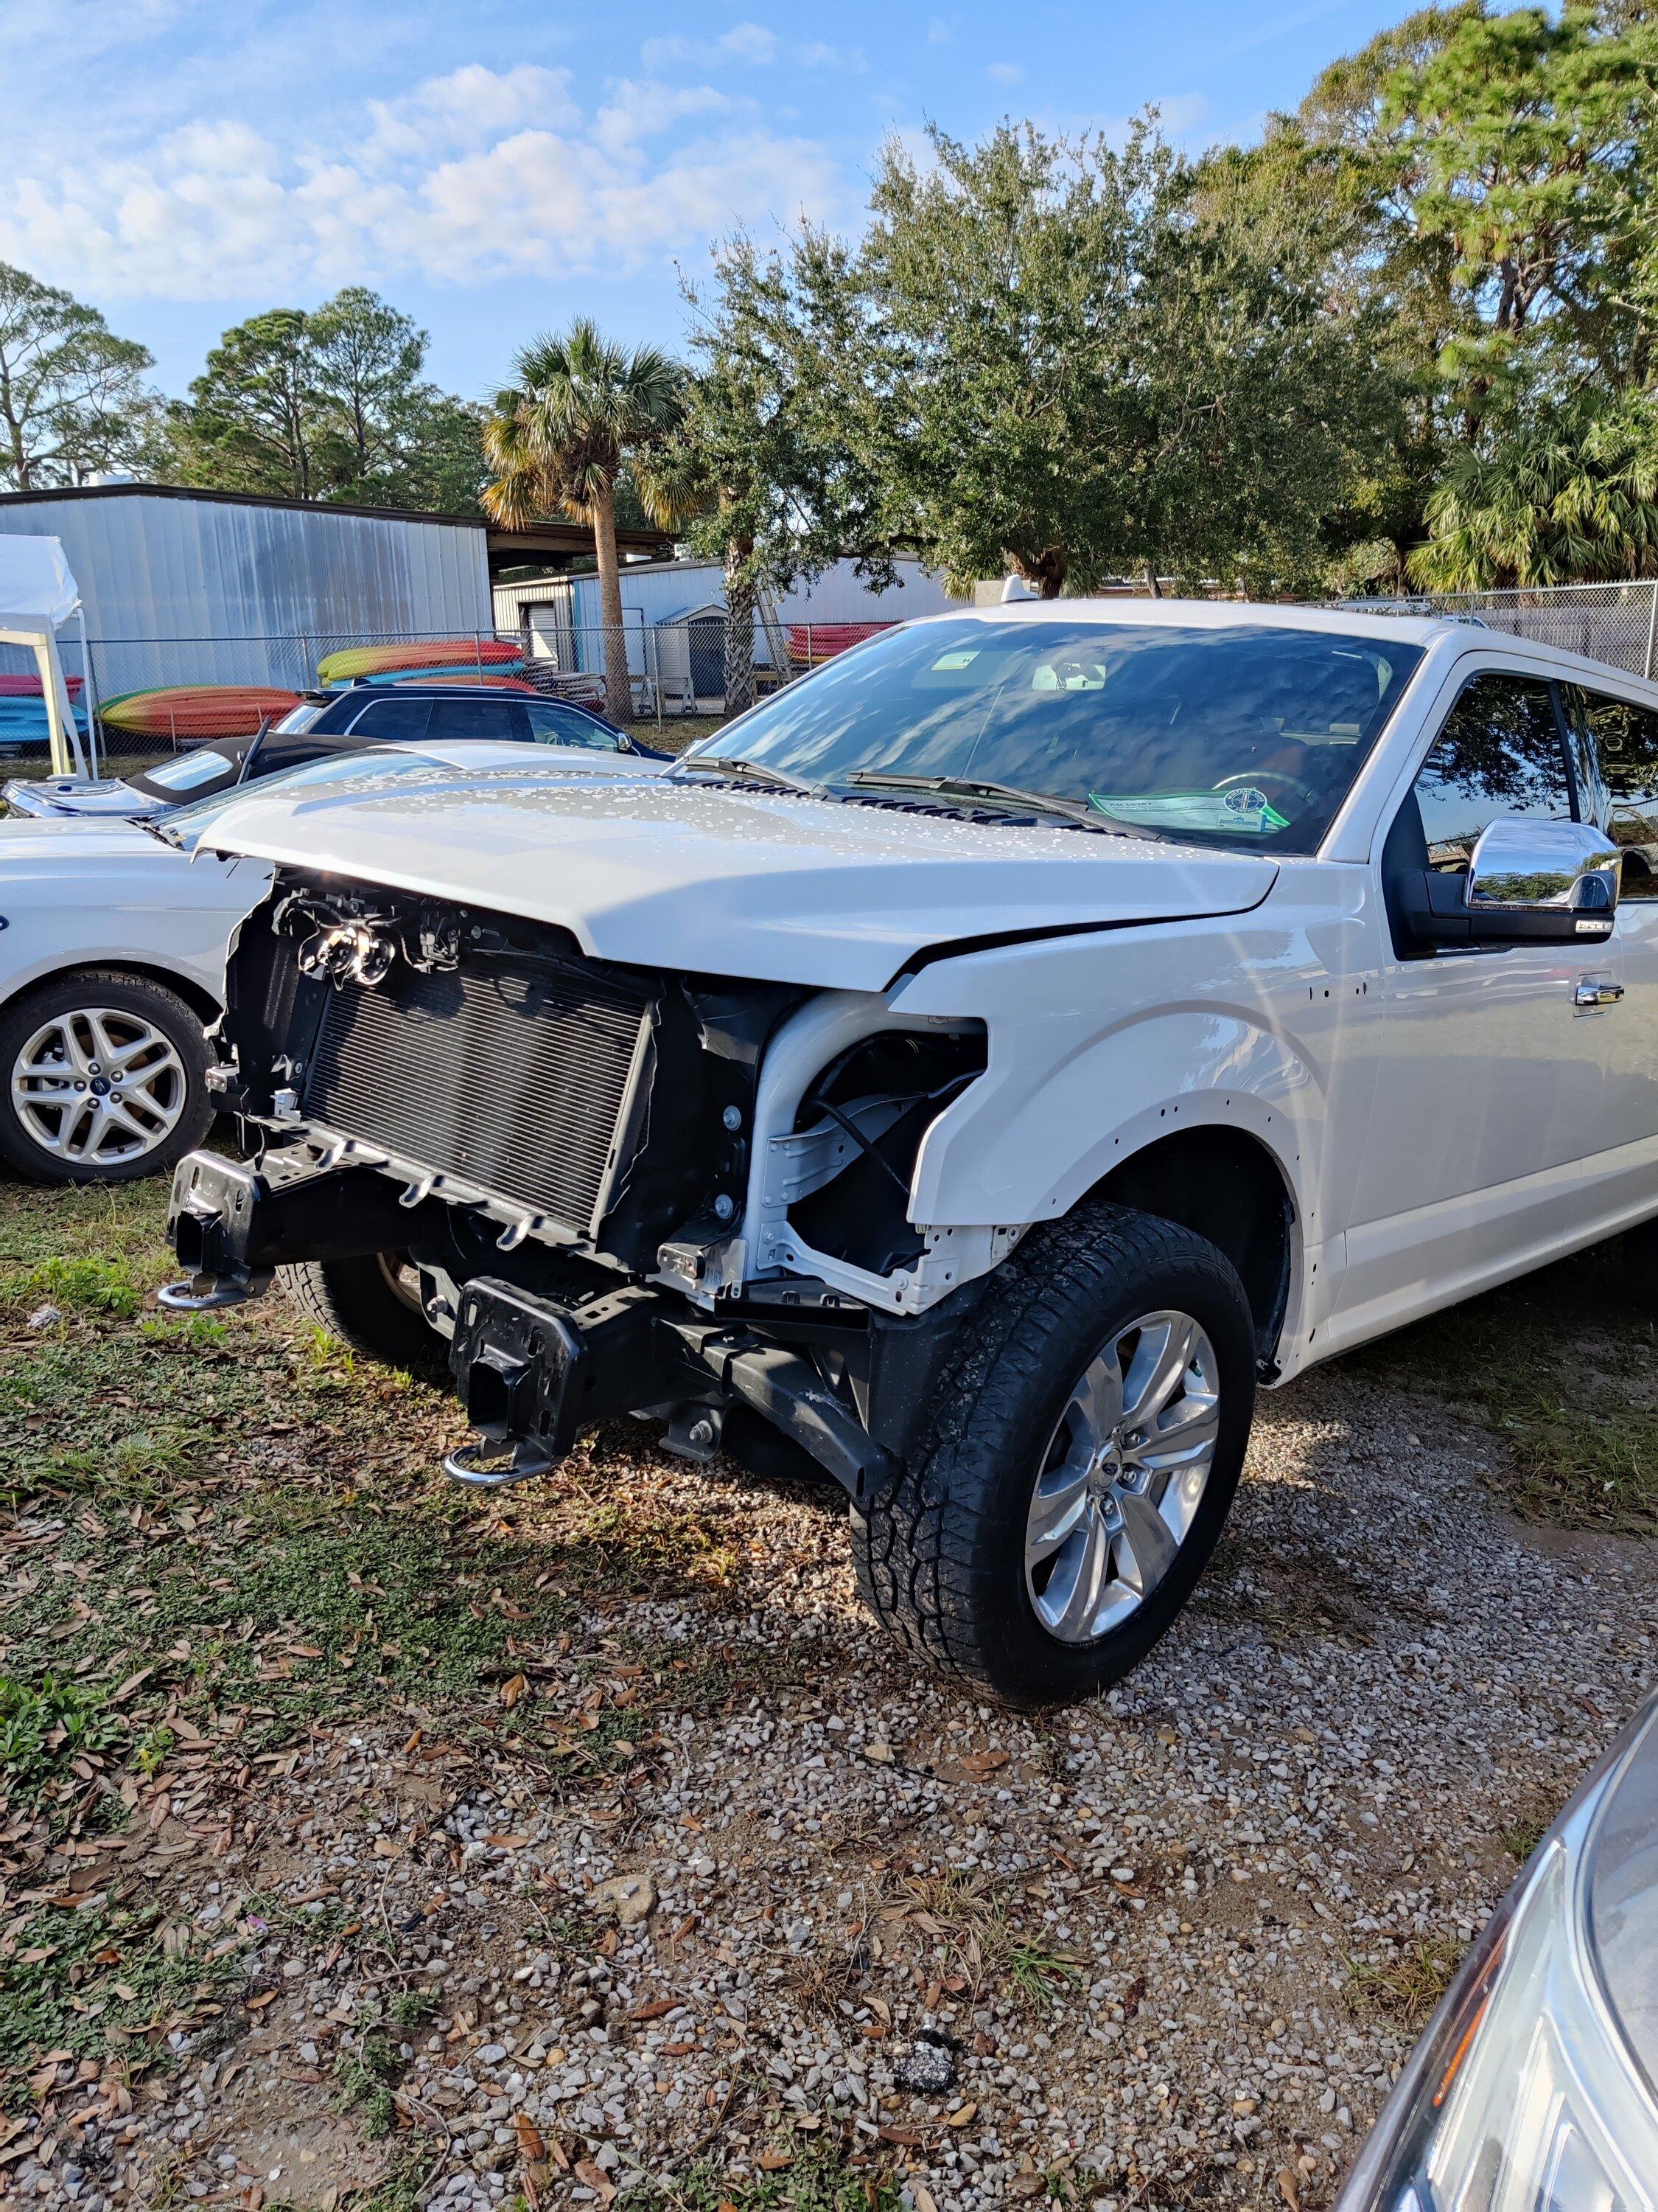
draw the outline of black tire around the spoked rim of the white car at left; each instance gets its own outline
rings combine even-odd
[[[126,1157],[115,1157],[113,1150],[99,1159],[57,1157],[18,1113],[13,1099],[13,1077],[42,1029],[66,1022],[69,1033],[77,1035],[82,1046],[91,1046],[91,1035],[75,1024],[75,1018],[88,1009],[113,1015],[113,1024],[106,1026],[113,1026],[117,1044],[133,1042],[139,1029],[148,1029],[153,1035],[166,1037],[177,1055],[177,1068],[166,1068],[159,1088],[146,1093],[150,1104],[128,1099],[128,1106],[144,1121],[155,1117],[157,1139]],[[38,984],[0,1009],[0,1159],[33,1183],[133,1183],[144,1175],[170,1175],[212,1128],[208,1064],[201,1015],[177,991],[150,982],[148,975],[124,975],[119,969],[80,969],[57,982]],[[71,1064],[66,1060],[64,1071],[69,1077]],[[104,1082],[111,1095],[119,1093],[102,1064],[99,1073],[88,1077],[88,1093],[97,1082]],[[161,1124],[157,1104],[172,1117],[170,1126]],[[64,1117],[53,1108],[42,1106],[35,1113],[35,1126],[42,1133],[46,1124],[55,1124],[55,1130],[64,1133],[71,1144],[75,1141],[75,1128],[66,1128]],[[111,1146],[124,1137],[139,1144],[126,1128],[111,1126]]]

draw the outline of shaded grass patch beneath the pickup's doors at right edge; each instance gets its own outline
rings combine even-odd
[[[1492,1480],[1561,1528],[1658,1535],[1658,1327],[1605,1245],[1435,1314],[1344,1363],[1483,1420]]]

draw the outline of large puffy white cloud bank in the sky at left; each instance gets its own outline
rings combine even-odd
[[[588,115],[564,69],[471,64],[360,117],[316,144],[190,122],[35,157],[0,195],[0,259],[95,296],[212,301],[617,272],[738,223],[844,212],[822,144],[707,84],[623,80]]]

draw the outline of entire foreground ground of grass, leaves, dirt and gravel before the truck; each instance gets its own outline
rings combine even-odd
[[[1658,1546],[1349,1365],[1132,1681],[966,1705],[833,1500],[619,1425],[480,1511],[449,1400],[161,1321],[161,1203],[0,1192],[20,2203],[1315,2208],[1654,1674]]]

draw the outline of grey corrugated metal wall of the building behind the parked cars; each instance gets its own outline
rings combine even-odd
[[[0,531],[62,540],[99,688],[298,688],[336,644],[495,626],[482,526],[111,491],[0,502]]]

